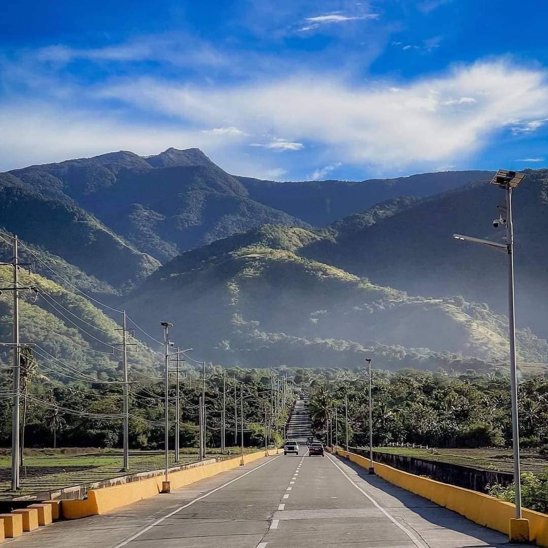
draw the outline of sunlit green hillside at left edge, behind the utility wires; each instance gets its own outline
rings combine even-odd
[[[12,267],[0,266],[2,283],[12,279]],[[98,379],[121,379],[122,353],[119,351],[119,322],[113,321],[82,295],[72,293],[37,273],[20,270],[20,283],[38,288],[20,292],[20,340],[30,348],[43,372],[53,370],[57,382],[67,383],[83,372]],[[0,339],[12,338],[13,294],[0,295]],[[76,317],[77,316],[77,317]],[[134,371],[144,372],[157,366],[157,358],[138,340],[137,351],[128,355]],[[133,347],[132,347],[133,349]],[[0,347],[0,361],[11,363],[9,347]],[[46,369],[47,368],[47,369]]]

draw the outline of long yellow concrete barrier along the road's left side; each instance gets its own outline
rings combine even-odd
[[[252,463],[254,460],[264,457],[264,451],[244,455],[244,464]],[[219,463],[194,466],[185,470],[170,472],[169,481],[171,489],[179,489],[199,481],[226,472],[240,465],[240,456],[223,460]],[[110,512],[119,506],[126,506],[138,500],[149,498],[162,492],[164,476],[156,476],[140,481],[124,483],[112,487],[93,489],[88,491],[88,498],[85,500],[63,500],[61,501],[62,516],[68,520],[75,520],[81,517],[95,516]]]

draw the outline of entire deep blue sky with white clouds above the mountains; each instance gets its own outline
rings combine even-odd
[[[277,180],[548,165],[546,2],[2,9],[0,169],[170,146]]]

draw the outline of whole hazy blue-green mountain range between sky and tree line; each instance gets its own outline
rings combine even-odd
[[[25,313],[61,322],[50,343],[86,370],[93,360],[71,353],[71,338],[101,344],[67,315],[72,306],[82,315],[75,287],[128,310],[148,333],[172,321],[196,356],[227,366],[352,367],[367,352],[390,369],[486,370],[507,359],[505,257],[451,235],[503,241],[492,226],[503,193],[491,177],[261,181],[226,173],[198,149],[121,151],[0,174],[0,230],[22,239],[33,276],[65,292],[64,315],[47,297]],[[548,361],[547,184],[547,170],[530,171],[515,192],[518,350],[529,370]],[[0,256],[11,258],[7,241]],[[7,295],[0,304],[7,318]],[[89,306],[87,325],[114,336]],[[143,355],[139,367],[155,367]]]

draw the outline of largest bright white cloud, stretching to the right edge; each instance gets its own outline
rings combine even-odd
[[[398,83],[397,93],[391,84],[350,84],[325,72],[214,88],[141,79],[100,96],[191,125],[216,127],[222,120],[252,135],[292,135],[253,143],[273,150],[299,150],[308,141],[329,149],[333,161],[394,169],[455,163],[497,130],[513,125],[528,132],[548,119],[545,73],[504,61]],[[448,109],[444,104],[455,98]]]

